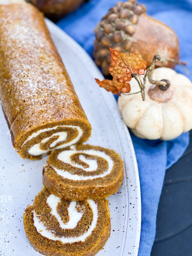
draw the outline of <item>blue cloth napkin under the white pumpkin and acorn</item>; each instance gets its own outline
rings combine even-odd
[[[62,18],[57,24],[73,37],[91,56],[93,29],[118,0],[90,0],[78,10]],[[124,1],[125,2],[125,1]],[[190,0],[143,0],[147,14],[172,27],[180,41],[180,59],[192,70],[192,2]],[[180,66],[178,72],[184,73]],[[192,79],[192,76],[190,76]],[[136,152],[142,202],[141,239],[138,255],[149,256],[156,229],[156,215],[165,170],[182,156],[189,143],[189,133],[172,141],[142,140],[132,135]]]

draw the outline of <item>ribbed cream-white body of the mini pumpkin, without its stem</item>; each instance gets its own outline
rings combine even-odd
[[[148,91],[155,85],[147,78],[145,101],[142,100],[141,93],[121,94],[118,99],[119,109],[124,122],[137,137],[172,140],[182,132],[192,129],[192,83],[184,75],[164,67],[153,71],[153,79],[170,81],[169,88],[173,91],[170,100],[159,102],[152,99]],[[131,93],[140,90],[134,78],[130,84]]]

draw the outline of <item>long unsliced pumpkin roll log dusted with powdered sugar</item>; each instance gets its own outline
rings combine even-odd
[[[91,134],[44,17],[29,3],[0,5],[0,98],[23,158],[39,159]]]

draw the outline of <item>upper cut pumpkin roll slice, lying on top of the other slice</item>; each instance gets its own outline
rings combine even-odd
[[[53,151],[43,167],[43,184],[55,196],[69,200],[108,197],[118,191],[123,161],[108,148],[76,145]]]

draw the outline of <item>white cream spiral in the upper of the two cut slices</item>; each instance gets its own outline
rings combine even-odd
[[[64,163],[67,163],[67,164],[70,164],[71,166],[79,168],[80,171],[81,171],[81,169],[83,169],[84,171],[87,171],[89,173],[89,172],[97,170],[98,165],[97,165],[96,159],[87,159],[83,155],[80,155],[79,159],[89,165],[89,167],[84,167],[77,163],[74,163],[71,160],[71,156],[73,154],[77,154],[77,153],[87,154],[90,156],[98,156],[98,157],[105,159],[108,162],[108,168],[106,169],[105,172],[103,172],[101,174],[92,175],[92,176],[91,175],[83,176],[81,174],[78,175],[78,174],[70,173],[65,169],[63,169],[63,170],[57,169],[56,167],[51,165],[51,167],[57,172],[58,175],[62,176],[63,178],[72,179],[72,180],[88,180],[88,179],[102,178],[111,173],[114,163],[113,163],[113,160],[111,159],[111,157],[109,155],[107,155],[105,152],[99,151],[99,150],[93,150],[93,149],[76,150],[75,147],[71,147],[71,148],[73,148],[73,149],[72,150],[64,150],[64,151],[60,152],[58,154],[57,158]]]

